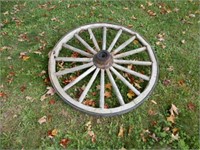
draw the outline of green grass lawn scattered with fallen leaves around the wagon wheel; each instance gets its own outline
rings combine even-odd
[[[0,4],[1,149],[200,148],[198,1]],[[124,25],[139,32],[159,60],[159,81],[153,94],[124,115],[90,116],[64,103],[57,94],[41,100],[51,86],[48,53],[66,32],[94,22]]]

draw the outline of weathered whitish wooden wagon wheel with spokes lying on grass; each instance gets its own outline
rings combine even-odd
[[[99,41],[97,40],[95,30],[101,32],[98,34],[101,35]],[[112,41],[108,45],[109,30],[115,31],[115,36],[113,36]],[[93,46],[84,40],[85,37],[81,37],[82,33],[87,33],[90,36]],[[119,44],[119,39],[123,35],[129,36],[129,38]],[[78,41],[75,46],[70,45],[70,40],[72,39]],[[130,45],[134,42],[139,43],[139,47],[131,47]],[[77,48],[79,45],[83,47]],[[63,57],[60,55],[62,51],[71,51],[79,56]],[[135,60],[137,57],[134,56],[145,53],[148,54],[148,60]],[[68,67],[62,66],[62,69],[59,70],[57,66],[60,62],[66,63]],[[79,63],[78,65],[72,65],[77,62]],[[83,64],[80,65],[80,63]],[[136,71],[124,65],[148,68],[150,73],[146,75],[141,71]],[[99,116],[119,115],[136,108],[150,95],[158,78],[158,62],[153,49],[146,40],[137,32],[128,28],[107,23],[84,25],[67,33],[54,47],[50,55],[48,67],[51,83],[65,102],[83,112]],[[83,72],[79,74],[80,71]],[[78,72],[78,76],[66,85],[63,85],[59,80],[64,75],[76,72]],[[140,90],[136,87],[138,84],[134,84],[125,77],[127,75],[138,78],[137,81],[146,82],[145,87]],[[80,96],[72,98],[68,91],[86,78],[89,78],[89,81]],[[100,82],[99,91],[96,90],[99,92],[98,106],[88,106],[84,101],[96,80]],[[105,80],[111,83],[112,95],[116,97],[115,101],[117,101],[118,106],[105,108]],[[120,81],[120,85],[118,81]],[[121,84],[126,86],[135,95],[128,102],[125,100],[127,96],[120,90]]]

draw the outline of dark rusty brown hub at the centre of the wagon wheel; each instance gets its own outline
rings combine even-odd
[[[93,62],[96,67],[107,69],[113,64],[113,57],[108,51],[101,50],[94,55]]]

